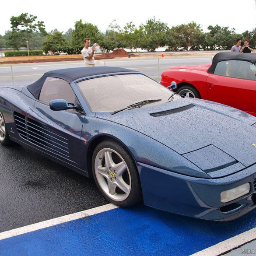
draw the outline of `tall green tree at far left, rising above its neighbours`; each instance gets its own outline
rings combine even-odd
[[[36,21],[37,16],[28,13],[22,13],[19,16],[12,16],[11,35],[9,36],[9,46],[18,50],[22,46],[26,46],[26,41],[30,41],[34,32],[41,32],[46,35],[45,25],[43,21]]]

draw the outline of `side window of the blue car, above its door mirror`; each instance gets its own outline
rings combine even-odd
[[[70,84],[60,78],[47,77],[42,86],[39,100],[49,103],[53,99],[65,99],[68,102],[76,102],[76,96]]]

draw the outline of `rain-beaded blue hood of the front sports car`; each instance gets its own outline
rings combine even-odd
[[[256,147],[252,145],[256,144],[256,127],[252,126],[256,118],[219,103],[182,98],[95,116],[137,130],[190,161],[196,154],[210,157],[209,152],[223,152],[246,167],[256,162]],[[209,147],[209,152],[205,153],[204,147]]]

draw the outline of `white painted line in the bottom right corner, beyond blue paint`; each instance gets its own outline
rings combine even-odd
[[[256,239],[256,228],[245,231],[242,234],[231,237],[216,245],[206,248],[200,252],[192,254],[192,256],[216,256],[231,249],[240,247],[241,245]]]

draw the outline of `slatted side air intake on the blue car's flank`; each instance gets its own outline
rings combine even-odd
[[[63,158],[68,159],[70,157],[66,138],[45,129],[42,124],[17,112],[14,112],[14,120],[18,133],[24,140]]]

